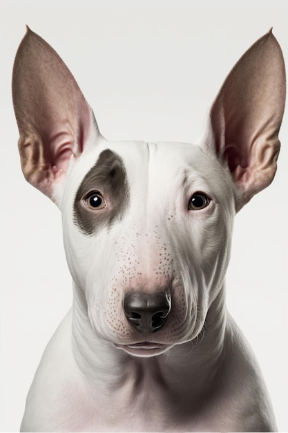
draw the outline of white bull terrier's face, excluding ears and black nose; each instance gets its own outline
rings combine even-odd
[[[214,158],[184,143],[103,140],[70,167],[61,212],[70,272],[97,335],[133,352],[128,345],[164,350],[202,331],[235,213],[231,176]],[[143,335],[128,323],[132,291],[171,295],[163,328]]]

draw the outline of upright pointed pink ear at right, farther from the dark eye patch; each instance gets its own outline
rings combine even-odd
[[[234,66],[210,111],[213,145],[236,185],[237,210],[276,173],[285,93],[282,51],[270,31]]]

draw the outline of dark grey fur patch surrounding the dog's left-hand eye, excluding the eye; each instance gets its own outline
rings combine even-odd
[[[99,191],[109,198],[111,207],[104,212],[91,212],[82,204],[90,191]],[[129,188],[122,158],[110,149],[102,151],[95,165],[79,186],[73,205],[74,221],[84,234],[95,234],[101,228],[111,228],[121,220],[128,208]]]

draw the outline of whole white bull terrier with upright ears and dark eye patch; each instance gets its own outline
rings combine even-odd
[[[106,140],[29,28],[12,97],[23,174],[61,210],[73,278],[21,431],[276,431],[224,285],[234,216],[276,172],[285,64],[272,31],[233,67],[193,144]]]

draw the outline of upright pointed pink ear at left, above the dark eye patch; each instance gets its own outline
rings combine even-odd
[[[55,50],[29,28],[15,57],[12,98],[23,174],[53,199],[70,158],[101,136],[73,75]]]

